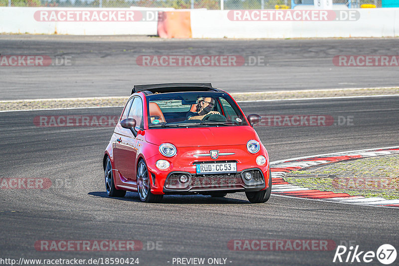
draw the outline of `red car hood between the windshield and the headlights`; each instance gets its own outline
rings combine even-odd
[[[150,129],[145,136],[150,143],[161,145],[169,142],[176,147],[246,145],[249,139],[259,141],[250,126]]]

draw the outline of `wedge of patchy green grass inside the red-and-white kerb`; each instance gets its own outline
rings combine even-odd
[[[285,180],[310,189],[399,199],[399,154],[294,171],[287,174]]]

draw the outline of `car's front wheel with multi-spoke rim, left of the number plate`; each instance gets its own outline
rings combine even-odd
[[[155,195],[151,193],[147,165],[143,159],[140,160],[137,165],[137,192],[139,193],[140,200],[147,203],[158,203],[164,197],[164,195]]]

